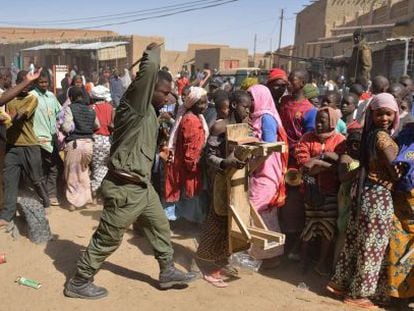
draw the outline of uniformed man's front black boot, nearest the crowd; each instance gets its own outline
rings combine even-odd
[[[197,277],[196,273],[183,272],[176,267],[172,260],[166,262],[159,262],[160,264],[160,287],[161,289],[168,289],[175,285],[185,285],[194,281]]]

